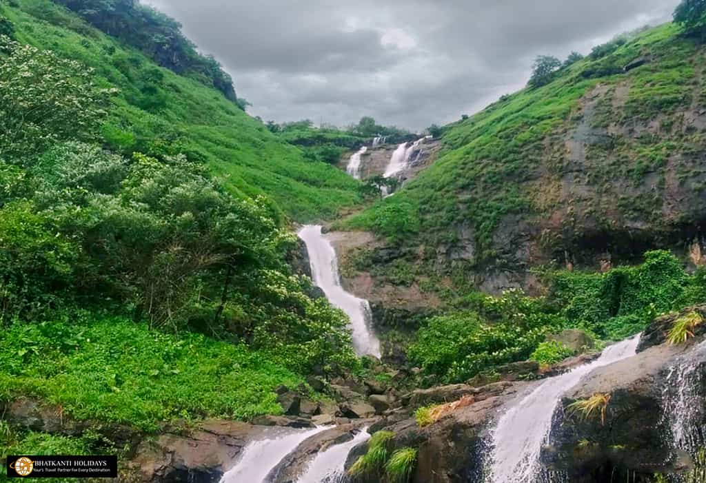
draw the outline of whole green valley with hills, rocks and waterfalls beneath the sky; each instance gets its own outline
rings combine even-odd
[[[706,44],[678,12],[412,133],[263,122],[135,1],[0,0],[0,459],[706,482]]]

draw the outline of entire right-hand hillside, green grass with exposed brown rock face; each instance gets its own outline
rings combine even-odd
[[[469,280],[688,243],[706,221],[705,55],[674,24],[599,46],[446,126],[436,164],[344,225]]]

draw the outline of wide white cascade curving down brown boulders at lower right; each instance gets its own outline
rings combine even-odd
[[[489,470],[493,483],[534,483],[539,473],[539,451],[551,430],[554,410],[561,397],[594,369],[635,355],[640,336],[603,351],[601,356],[571,372],[546,379],[527,396],[519,398],[498,420],[491,434]]]

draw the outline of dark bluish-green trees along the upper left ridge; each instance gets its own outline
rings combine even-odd
[[[91,25],[139,49],[160,66],[213,85],[241,109],[231,76],[213,56],[203,56],[181,32],[181,24],[138,0],[54,0]]]

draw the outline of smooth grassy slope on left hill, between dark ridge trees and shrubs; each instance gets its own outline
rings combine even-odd
[[[3,6],[21,42],[52,49],[95,68],[99,82],[118,87],[104,135],[123,152],[172,145],[203,159],[234,193],[265,194],[292,219],[333,216],[357,201],[357,182],[323,163],[306,161],[215,89],[160,68],[164,107],[147,112],[131,101],[140,75],[155,64],[126,49],[48,0]],[[175,148],[176,149],[176,148]]]

